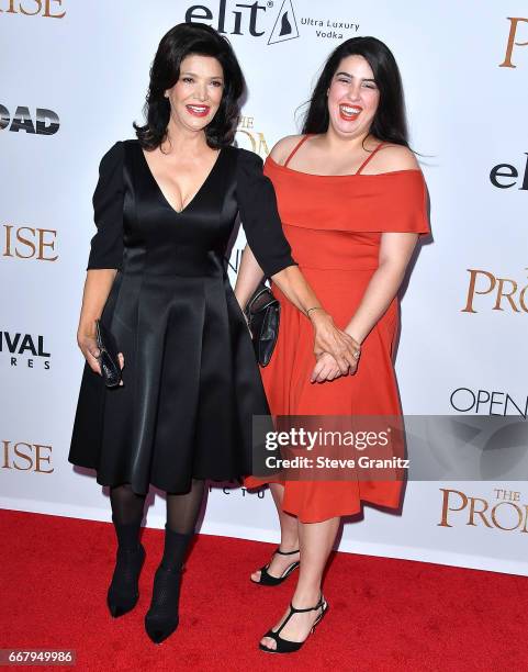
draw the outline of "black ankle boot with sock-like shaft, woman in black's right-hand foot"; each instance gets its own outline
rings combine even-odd
[[[167,639],[178,627],[181,570],[192,537],[165,529],[164,559],[156,570],[153,600],[145,615],[145,630],[155,643]]]

